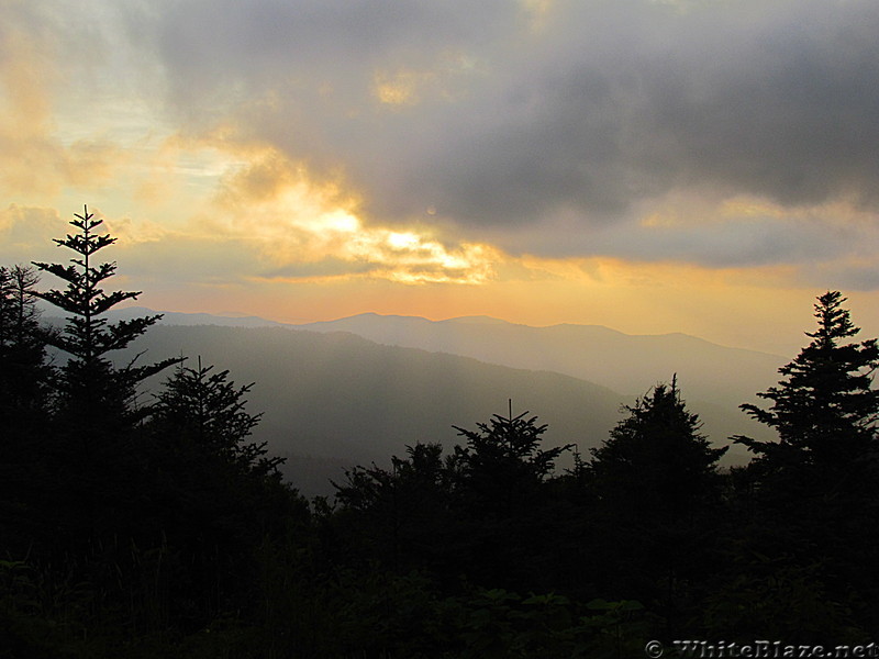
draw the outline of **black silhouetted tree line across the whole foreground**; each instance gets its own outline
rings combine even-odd
[[[589,455],[528,412],[356,466],[305,500],[254,442],[251,384],[112,356],[114,238],[0,267],[0,657],[633,657],[649,639],[879,635],[876,339],[838,291],[721,469],[676,378]],[[41,275],[65,288],[37,290]],[[43,300],[66,314],[40,320]],[[585,346],[588,349],[588,346]],[[142,384],[164,378],[146,396]],[[294,377],[294,373],[292,375]],[[719,378],[723,373],[717,373]],[[296,429],[291,428],[291,433]],[[557,469],[574,453],[570,469]]]

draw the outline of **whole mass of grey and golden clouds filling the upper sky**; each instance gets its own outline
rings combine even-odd
[[[871,0],[32,7],[2,9],[0,181],[129,185],[155,121],[173,163],[131,187],[179,194],[175,230],[247,250],[242,276],[488,281],[509,253],[855,277],[879,246]],[[181,169],[199,149],[222,167]]]

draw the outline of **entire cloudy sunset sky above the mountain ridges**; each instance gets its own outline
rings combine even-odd
[[[879,334],[877,118],[875,0],[0,0],[0,264],[788,355]]]

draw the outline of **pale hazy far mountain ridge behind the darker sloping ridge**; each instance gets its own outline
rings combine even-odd
[[[602,325],[518,325],[477,316],[429,321],[360,314],[299,325],[351,332],[376,343],[474,357],[513,368],[550,370],[641,395],[677,373],[685,392],[730,405],[753,400],[778,380],[786,359],[730,348],[686,334],[628,335]]]

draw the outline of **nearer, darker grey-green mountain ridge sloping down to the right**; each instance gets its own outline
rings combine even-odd
[[[475,427],[492,414],[525,410],[549,424],[548,446],[588,451],[619,417],[621,396],[548,371],[383,346],[349,333],[283,327],[157,325],[118,356],[144,362],[185,355],[255,382],[248,411],[263,412],[255,437],[288,456],[288,478],[309,494],[330,493],[343,467],[388,463],[407,445],[458,442],[452,427]],[[151,383],[157,387],[160,378]],[[148,393],[146,394],[148,395]]]

